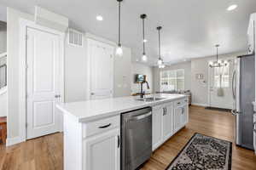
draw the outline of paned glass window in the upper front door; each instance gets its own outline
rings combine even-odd
[[[230,65],[214,68],[214,87],[230,88]]]

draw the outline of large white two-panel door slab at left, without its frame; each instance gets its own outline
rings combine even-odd
[[[26,29],[26,139],[60,130],[61,37]]]

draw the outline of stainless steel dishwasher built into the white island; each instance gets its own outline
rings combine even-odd
[[[121,115],[121,169],[135,170],[152,153],[152,108]]]

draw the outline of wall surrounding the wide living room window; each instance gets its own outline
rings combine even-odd
[[[191,62],[177,63],[174,65],[167,65],[164,69],[154,67],[154,91],[160,91],[160,71],[172,71],[177,69],[184,70],[185,84],[184,90],[191,90]]]

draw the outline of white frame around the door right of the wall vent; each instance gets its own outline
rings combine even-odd
[[[90,33],[85,34],[85,38],[87,41],[87,94],[86,94],[86,99],[90,99],[90,91],[91,91],[91,81],[90,81],[90,72],[91,72],[91,67],[90,67],[90,58],[91,58],[91,51],[90,51],[90,44],[93,42],[99,42],[99,43],[105,43],[108,46],[113,47],[113,83],[114,83],[114,50],[115,50],[115,43],[108,41],[107,39],[101,38],[101,37],[96,37],[95,35],[92,35]],[[113,83],[112,83],[112,92],[113,92]],[[114,92],[113,92],[114,93]],[[113,98],[113,94],[112,94]]]

